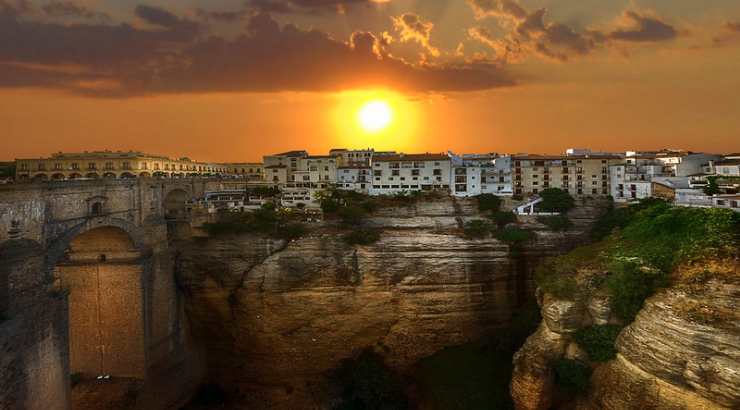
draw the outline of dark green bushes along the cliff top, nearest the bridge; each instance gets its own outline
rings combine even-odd
[[[302,223],[291,222],[289,216],[275,211],[275,204],[266,202],[253,212],[227,212],[217,222],[206,222],[203,229],[209,236],[257,233],[273,238],[293,240],[308,232]]]

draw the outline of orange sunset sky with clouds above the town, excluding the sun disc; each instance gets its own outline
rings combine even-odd
[[[384,101],[393,119],[357,116]],[[740,151],[738,0],[0,0],[0,160]]]

